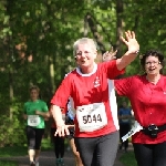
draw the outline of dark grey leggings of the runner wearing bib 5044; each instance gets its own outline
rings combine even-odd
[[[118,132],[98,137],[75,137],[84,166],[113,166],[120,142]]]

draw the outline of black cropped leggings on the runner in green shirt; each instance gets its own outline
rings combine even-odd
[[[40,149],[44,128],[33,128],[31,126],[27,126],[25,132],[29,149]]]

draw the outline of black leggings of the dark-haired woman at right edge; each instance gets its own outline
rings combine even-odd
[[[166,142],[133,144],[137,166],[166,166]]]

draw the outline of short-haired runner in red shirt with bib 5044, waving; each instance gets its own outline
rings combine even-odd
[[[122,41],[127,52],[117,60],[96,64],[97,51],[92,39],[82,38],[73,45],[77,68],[61,83],[51,104],[60,136],[69,135],[62,121],[60,107],[68,98],[73,100],[75,110],[74,142],[84,166],[113,166],[118,146],[117,105],[113,79],[124,73],[125,66],[135,60],[139,44],[135,33],[125,32]],[[64,95],[65,92],[65,95]]]

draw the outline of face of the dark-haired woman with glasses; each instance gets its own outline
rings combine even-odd
[[[157,56],[147,56],[146,60],[145,60],[145,72],[151,75],[153,74],[159,74],[159,71],[162,69],[162,64],[158,60]]]

